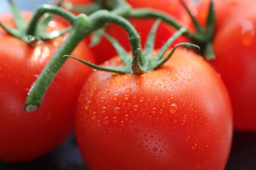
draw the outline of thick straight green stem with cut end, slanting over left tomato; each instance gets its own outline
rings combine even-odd
[[[27,112],[35,111],[40,106],[46,90],[66,60],[66,58],[62,59],[62,56],[70,54],[83,39],[81,34],[88,23],[88,17],[85,14],[80,14],[72,23],[74,28],[70,32],[70,35],[50,62],[44,67],[42,73],[31,87],[24,106]]]

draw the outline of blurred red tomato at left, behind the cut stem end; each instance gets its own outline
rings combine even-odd
[[[25,12],[23,16],[28,21],[32,13]],[[11,14],[1,14],[0,18],[3,24],[15,27]],[[51,21],[48,29],[63,28]],[[30,47],[0,28],[1,160],[20,162],[37,158],[62,144],[72,132],[76,98],[84,78],[92,70],[75,60],[66,62],[60,69],[37,111],[27,113],[24,110],[31,85],[66,37]],[[94,62],[84,42],[77,46],[73,55]]]

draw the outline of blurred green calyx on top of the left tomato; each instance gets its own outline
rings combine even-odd
[[[58,6],[61,5],[63,0],[60,0],[58,3]],[[21,15],[21,11],[19,8],[15,5],[15,3],[12,0],[8,0],[9,5],[11,7],[11,11],[13,14],[13,19],[16,24],[17,29],[10,28],[0,22],[0,26],[4,28],[9,34],[23,40],[30,46],[36,46],[38,43],[40,43],[42,40],[49,40],[53,39],[55,37],[58,37],[60,35],[63,35],[71,30],[70,27],[65,28],[60,31],[53,31],[50,33],[45,33],[46,28],[48,26],[48,23],[53,19],[53,15],[47,14],[47,16],[44,17],[44,20],[42,22],[37,23],[37,25],[34,26],[33,34],[28,34],[28,28],[29,24],[24,21]]]

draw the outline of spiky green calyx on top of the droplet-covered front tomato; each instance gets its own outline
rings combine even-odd
[[[182,34],[184,34],[187,29],[182,27],[180,28],[172,37],[170,37],[167,42],[162,46],[162,48],[159,50],[159,53],[156,54],[153,57],[153,50],[154,50],[154,43],[155,43],[155,36],[156,36],[156,31],[157,28],[160,24],[161,20],[158,19],[154,25],[151,28],[151,31],[148,35],[144,52],[141,52],[140,48],[137,48],[135,50],[135,55],[133,58],[131,58],[128,54],[128,52],[118,43],[118,41],[111,37],[110,35],[103,33],[103,36],[105,36],[113,45],[113,47],[116,49],[118,55],[120,56],[121,60],[124,63],[124,67],[107,67],[107,66],[99,66],[96,64],[92,64],[90,62],[78,59],[76,57],[70,56],[70,55],[64,55],[63,58],[70,57],[73,59],[76,59],[90,67],[96,70],[102,70],[102,71],[109,71],[109,72],[116,72],[116,73],[121,73],[121,74],[144,74],[147,71],[154,70],[162,66],[164,63],[166,63],[177,47],[179,46],[191,46],[191,47],[196,47],[198,49],[199,46],[196,46],[194,44],[190,43],[179,43],[177,44],[171,52],[168,54],[168,56],[163,58],[164,53],[168,50],[170,45]]]

